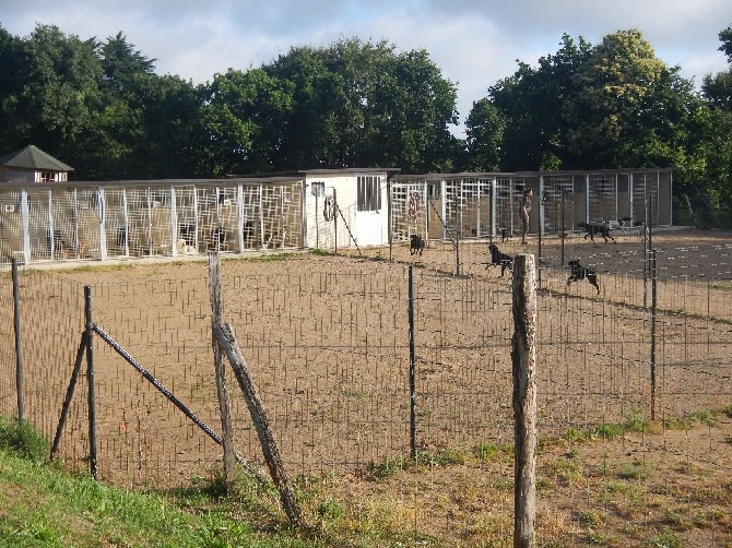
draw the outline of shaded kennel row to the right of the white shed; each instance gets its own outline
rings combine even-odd
[[[519,204],[534,190],[529,231],[579,230],[578,223],[673,224],[673,169],[516,174],[397,175],[391,181],[391,233],[428,239],[520,234]]]

